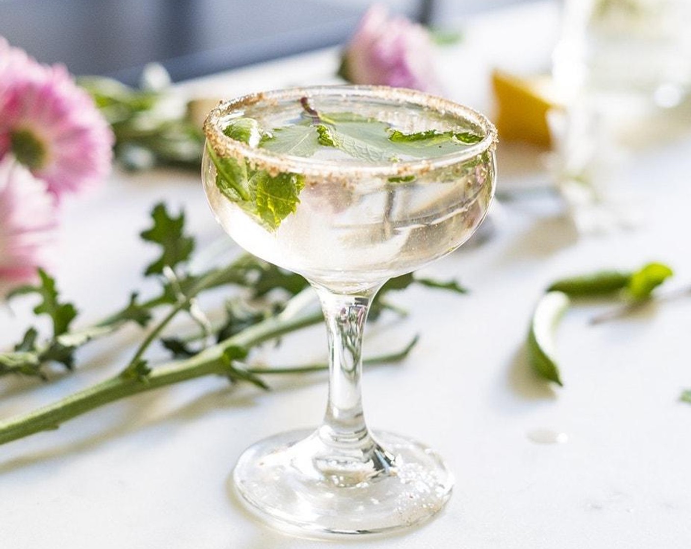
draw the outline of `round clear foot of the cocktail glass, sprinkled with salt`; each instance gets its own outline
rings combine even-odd
[[[388,532],[422,523],[451,496],[453,475],[426,445],[387,432],[357,448],[292,431],[249,447],[234,470],[250,510],[306,536]]]

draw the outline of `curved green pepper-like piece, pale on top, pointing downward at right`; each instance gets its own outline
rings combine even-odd
[[[569,297],[560,291],[545,293],[538,302],[527,338],[528,360],[535,372],[563,385],[556,363],[555,333],[558,322],[569,307]]]

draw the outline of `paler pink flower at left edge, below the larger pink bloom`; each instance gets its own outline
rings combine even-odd
[[[12,155],[0,161],[0,282],[34,280],[57,226],[55,198]]]

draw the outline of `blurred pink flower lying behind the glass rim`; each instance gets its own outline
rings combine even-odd
[[[433,46],[424,27],[405,17],[388,17],[372,6],[343,53],[339,70],[353,84],[373,84],[438,92]]]

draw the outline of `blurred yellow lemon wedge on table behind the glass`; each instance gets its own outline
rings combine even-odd
[[[553,108],[562,108],[553,88],[549,76],[520,77],[494,70],[492,89],[499,139],[549,148],[552,140],[547,113]]]

